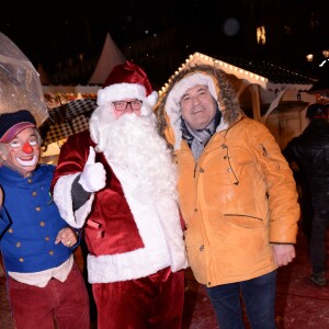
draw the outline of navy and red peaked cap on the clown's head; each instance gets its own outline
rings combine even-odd
[[[27,110],[0,115],[0,143],[10,143],[25,128],[35,128],[34,116]]]

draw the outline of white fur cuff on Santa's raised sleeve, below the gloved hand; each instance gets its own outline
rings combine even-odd
[[[78,174],[80,174],[80,172],[63,175],[58,179],[54,188],[54,201],[58,207],[60,216],[67,222],[67,224],[75,228],[81,228],[83,226],[86,218],[91,211],[91,205],[94,198],[94,195],[91,194],[87,203],[73,213],[71,189]]]

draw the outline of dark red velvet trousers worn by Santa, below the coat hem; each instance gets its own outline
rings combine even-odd
[[[92,292],[98,329],[180,329],[184,304],[184,271],[170,268],[147,277],[97,283]]]

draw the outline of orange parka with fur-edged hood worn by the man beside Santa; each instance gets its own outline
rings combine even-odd
[[[273,135],[241,114],[230,101],[235,95],[225,93],[220,72],[214,78],[217,88],[225,86],[218,88],[218,103],[226,124],[217,127],[197,161],[180,135],[179,116],[164,107],[166,94],[156,109],[179,168],[189,262],[207,286],[275,270],[272,243],[295,243],[299,219],[296,184]]]

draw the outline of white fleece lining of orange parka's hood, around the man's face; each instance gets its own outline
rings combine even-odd
[[[216,87],[214,83],[214,80],[203,73],[194,73],[191,76],[186,76],[182,80],[175,83],[175,86],[171,89],[167,97],[166,101],[166,112],[169,116],[169,120],[171,122],[171,126],[175,134],[175,145],[174,149],[179,149],[182,141],[182,134],[181,134],[181,107],[180,107],[180,101],[182,95],[185,93],[185,91],[196,84],[204,84],[208,88],[212,97],[218,101],[217,93],[216,93]]]

